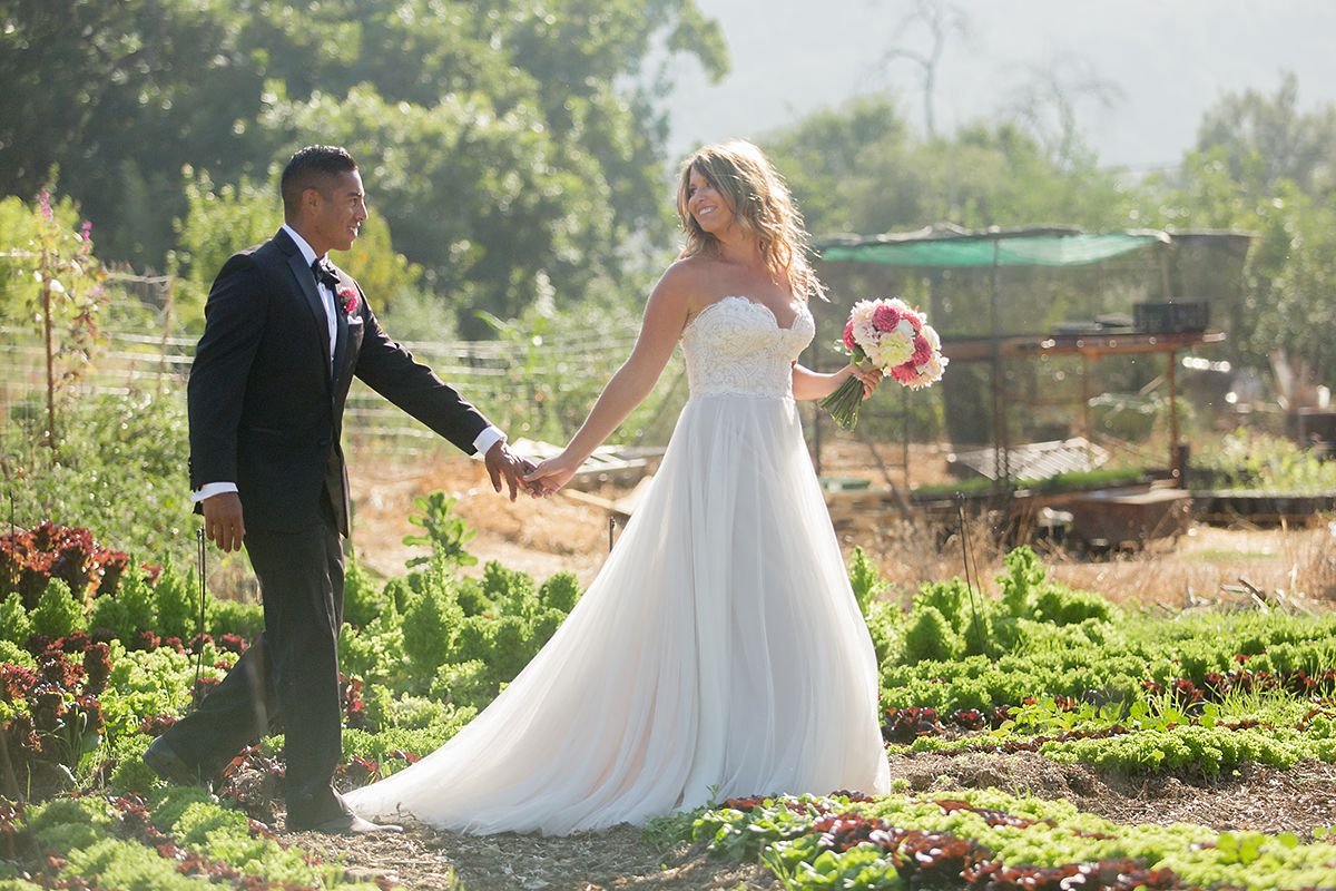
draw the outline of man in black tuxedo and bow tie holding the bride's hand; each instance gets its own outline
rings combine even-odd
[[[331,779],[342,761],[338,632],[347,470],[339,437],[353,377],[466,453],[485,456],[510,500],[532,468],[505,437],[381,329],[362,290],[326,258],[366,220],[362,178],[342,148],[302,148],[283,170],[283,227],[231,256],[204,306],[190,373],[190,482],[204,533],[244,544],[265,633],[199,709],[144,761],[190,783],[271,729],[285,732],[287,828],[397,831],[362,820]]]

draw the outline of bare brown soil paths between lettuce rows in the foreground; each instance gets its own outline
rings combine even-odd
[[[1305,761],[1289,771],[1248,767],[1212,781],[1104,776],[1039,755],[903,755],[891,776],[925,797],[997,788],[1065,799],[1121,824],[1194,823],[1218,831],[1295,832],[1336,824],[1336,765]],[[414,891],[735,891],[778,890],[762,867],[709,856],[701,844],[655,847],[633,827],[568,838],[474,838],[409,827],[402,835],[285,836],[349,874],[383,876]]]

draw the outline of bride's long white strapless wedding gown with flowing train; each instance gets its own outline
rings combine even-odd
[[[878,671],[792,398],[815,333],[741,297],[683,334],[691,399],[546,647],[366,818],[556,835],[727,797],[890,784]]]

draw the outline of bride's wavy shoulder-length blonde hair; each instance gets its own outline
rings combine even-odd
[[[807,262],[808,235],[788,186],[760,148],[736,139],[697,150],[681,167],[677,216],[687,234],[681,256],[717,255],[719,239],[687,210],[691,171],[709,180],[728,202],[737,224],[754,234],[775,282],[788,282],[800,299],[826,298],[826,287]]]

